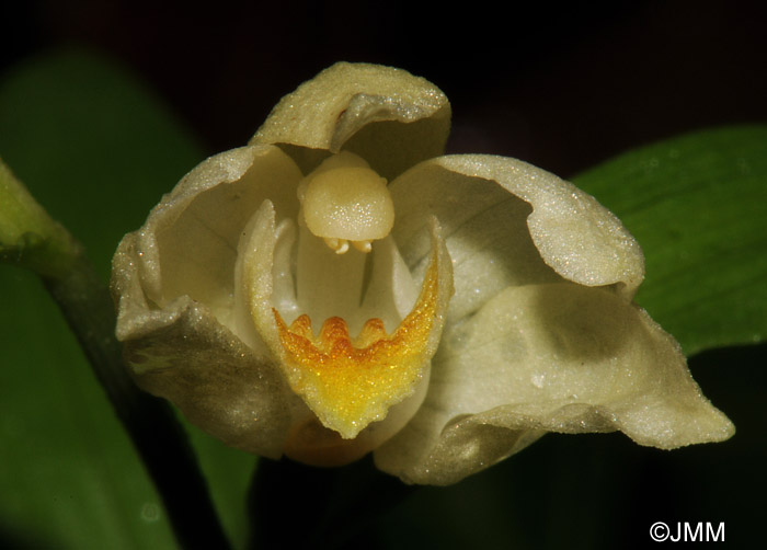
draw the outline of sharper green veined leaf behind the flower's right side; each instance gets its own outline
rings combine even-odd
[[[701,131],[577,177],[633,233],[637,301],[687,354],[767,336],[767,127]]]

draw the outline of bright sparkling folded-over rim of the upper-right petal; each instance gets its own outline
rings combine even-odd
[[[496,182],[530,204],[529,232],[543,261],[562,277],[586,286],[618,285],[633,296],[644,256],[613,213],[574,185],[526,162],[488,154],[435,159],[447,170]]]

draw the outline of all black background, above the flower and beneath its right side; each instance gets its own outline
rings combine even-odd
[[[680,133],[767,122],[767,10],[756,1],[88,0],[5,2],[0,13],[3,66],[62,46],[101,51],[147,81],[209,153],[244,144],[283,94],[336,60],[402,67],[440,87],[454,106],[451,152],[517,157],[565,177]],[[410,494],[358,540],[644,548],[663,520],[725,522],[726,545],[758,546],[766,356],[760,346],[690,362],[739,428],[725,444],[664,452],[617,434],[547,436],[456,486]]]

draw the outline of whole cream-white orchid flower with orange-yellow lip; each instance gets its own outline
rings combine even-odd
[[[730,437],[632,302],[644,262],[620,221],[519,160],[442,156],[449,121],[426,80],[337,64],[190,172],[114,259],[136,382],[227,445],[373,451],[408,483],[547,432]]]

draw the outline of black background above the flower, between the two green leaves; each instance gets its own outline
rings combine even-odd
[[[450,151],[562,176],[678,133],[767,119],[758,1],[7,4],[5,62],[69,44],[112,55],[210,152],[242,145],[282,95],[337,60],[440,87]]]

